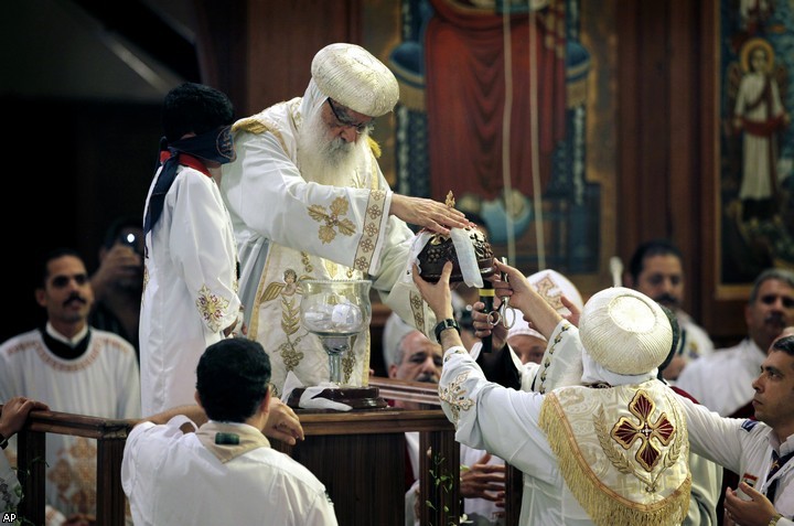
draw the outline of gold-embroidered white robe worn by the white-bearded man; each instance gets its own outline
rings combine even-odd
[[[240,256],[248,337],[270,354],[279,395],[289,372],[303,385],[329,380],[328,355],[302,328],[301,290],[286,271],[298,279],[372,279],[372,288],[404,320],[426,334],[436,322],[406,275],[414,234],[388,214],[393,193],[375,155],[363,155],[344,186],[303,178],[299,128],[324,100],[312,82],[304,97],[238,121],[237,161],[223,167],[221,189]],[[343,373],[347,385],[368,383],[368,330],[345,353]]]

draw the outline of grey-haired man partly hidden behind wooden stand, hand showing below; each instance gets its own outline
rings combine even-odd
[[[389,378],[438,384],[441,377],[441,345],[389,314],[384,326],[384,363]],[[428,409],[415,401],[394,400],[403,409]],[[437,408],[437,406],[431,406]],[[412,473],[406,492],[406,525],[418,524],[419,495],[419,433],[407,432],[406,446]],[[463,511],[476,526],[504,525],[505,465],[486,451],[461,444],[460,493]],[[408,485],[408,484],[407,484]]]

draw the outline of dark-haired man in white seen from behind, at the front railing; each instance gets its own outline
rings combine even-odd
[[[266,438],[294,446],[303,430],[287,405],[271,401],[259,343],[210,345],[195,401],[146,418],[127,438],[121,485],[136,525],[337,524],[325,486]]]

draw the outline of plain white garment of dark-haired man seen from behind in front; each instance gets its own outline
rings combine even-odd
[[[180,430],[187,422],[195,428],[184,416],[142,422],[127,438],[121,485],[136,526],[336,526],[325,486],[303,465],[269,447],[221,462]]]

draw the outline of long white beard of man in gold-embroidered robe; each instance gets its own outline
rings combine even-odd
[[[365,159],[368,132],[356,142],[330,138],[322,111],[314,111],[298,131],[298,168],[305,181],[333,186],[355,186],[356,167]]]

